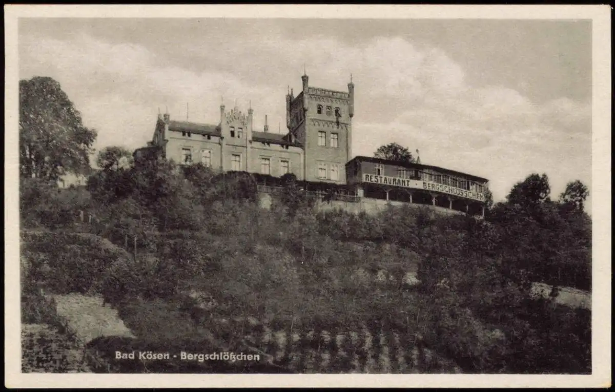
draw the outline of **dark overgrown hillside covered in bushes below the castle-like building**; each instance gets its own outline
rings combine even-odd
[[[87,189],[22,189],[22,227],[39,228],[22,232],[23,280],[100,294],[136,337],[121,347],[268,358],[242,372],[591,371],[590,311],[531,296],[533,281],[590,288],[589,218],[557,203],[498,205],[486,221],[404,206],[368,216],[316,211],[290,182],[263,210],[247,174],[167,163],[103,171]]]

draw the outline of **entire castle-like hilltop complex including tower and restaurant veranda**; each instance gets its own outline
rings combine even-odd
[[[247,171],[281,177],[295,174],[309,189],[322,182],[344,186],[346,198],[369,203],[426,204],[434,208],[484,214],[486,178],[421,163],[352,155],[354,84],[348,92],[310,87],[286,96],[287,133],[253,127],[247,114],[220,106],[220,123],[171,120],[159,114],[148,147],[135,158],[154,154],[182,165],[200,162],[216,171]],[[329,185],[327,185],[329,186]]]

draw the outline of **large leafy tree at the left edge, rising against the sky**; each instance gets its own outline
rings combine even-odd
[[[56,180],[89,166],[97,132],[50,77],[19,82],[20,176]]]

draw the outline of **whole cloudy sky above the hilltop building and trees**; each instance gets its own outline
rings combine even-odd
[[[496,201],[531,173],[554,199],[576,179],[592,195],[586,20],[22,18],[18,56],[20,79],[60,82],[97,149],[145,146],[159,110],[217,124],[222,100],[284,133],[305,69],[340,91],[352,74],[354,155],[419,149],[490,179]]]

